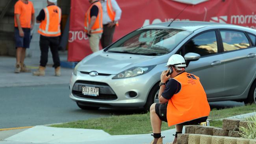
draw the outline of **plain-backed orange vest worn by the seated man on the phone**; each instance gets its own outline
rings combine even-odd
[[[168,101],[168,126],[209,116],[210,106],[199,78],[183,72],[174,79],[181,84],[181,89]]]

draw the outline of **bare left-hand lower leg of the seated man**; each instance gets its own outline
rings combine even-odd
[[[152,127],[152,130],[153,130],[153,133],[161,133],[162,121],[160,120],[160,118],[156,114],[155,106],[156,106],[156,103],[153,103],[150,106],[150,122],[151,122],[151,127]],[[157,141],[158,141],[158,138],[154,138],[153,144],[156,144]]]

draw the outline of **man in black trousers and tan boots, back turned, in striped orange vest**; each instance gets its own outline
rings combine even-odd
[[[59,61],[59,36],[61,35],[61,9],[55,5],[57,0],[47,0],[48,6],[42,9],[36,18],[40,23],[38,33],[40,33],[39,46],[41,50],[40,66],[37,71],[33,72],[34,76],[45,76],[45,66],[48,61],[48,50],[52,52],[54,62],[55,76],[60,76]]]

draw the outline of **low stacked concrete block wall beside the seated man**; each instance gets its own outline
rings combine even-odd
[[[247,127],[248,123],[250,121],[224,119],[222,128],[185,126],[185,134],[178,134],[178,144],[256,144],[256,140],[240,138],[238,127]]]

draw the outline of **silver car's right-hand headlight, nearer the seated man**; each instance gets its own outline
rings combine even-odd
[[[156,65],[138,66],[138,67],[129,68],[128,70],[124,70],[123,72],[120,72],[119,74],[114,76],[112,79],[130,78],[130,77],[146,74],[147,72],[152,70],[155,66]]]

